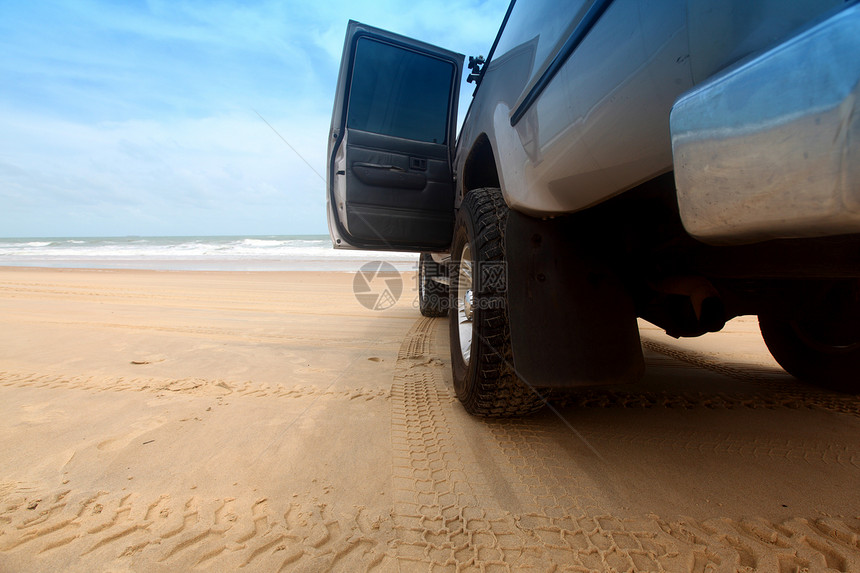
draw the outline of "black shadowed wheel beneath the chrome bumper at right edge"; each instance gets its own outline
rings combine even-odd
[[[760,315],[762,338],[792,376],[824,388],[860,393],[860,284],[828,289],[802,317]]]

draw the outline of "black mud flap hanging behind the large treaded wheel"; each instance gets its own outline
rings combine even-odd
[[[645,369],[630,295],[574,218],[511,211],[505,233],[514,367],[535,387],[634,382]]]

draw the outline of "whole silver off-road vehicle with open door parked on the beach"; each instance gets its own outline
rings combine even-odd
[[[860,388],[856,2],[515,0],[455,137],[463,63],[349,23],[327,201],[336,248],[422,253],[469,412],[635,381],[637,317],[757,315],[790,373]]]

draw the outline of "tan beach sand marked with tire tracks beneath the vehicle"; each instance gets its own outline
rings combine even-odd
[[[860,571],[860,401],[754,319],[487,421],[404,281],[0,268],[0,571]]]

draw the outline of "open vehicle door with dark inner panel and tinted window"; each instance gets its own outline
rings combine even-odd
[[[335,248],[438,251],[450,244],[463,59],[349,22],[328,140]]]

